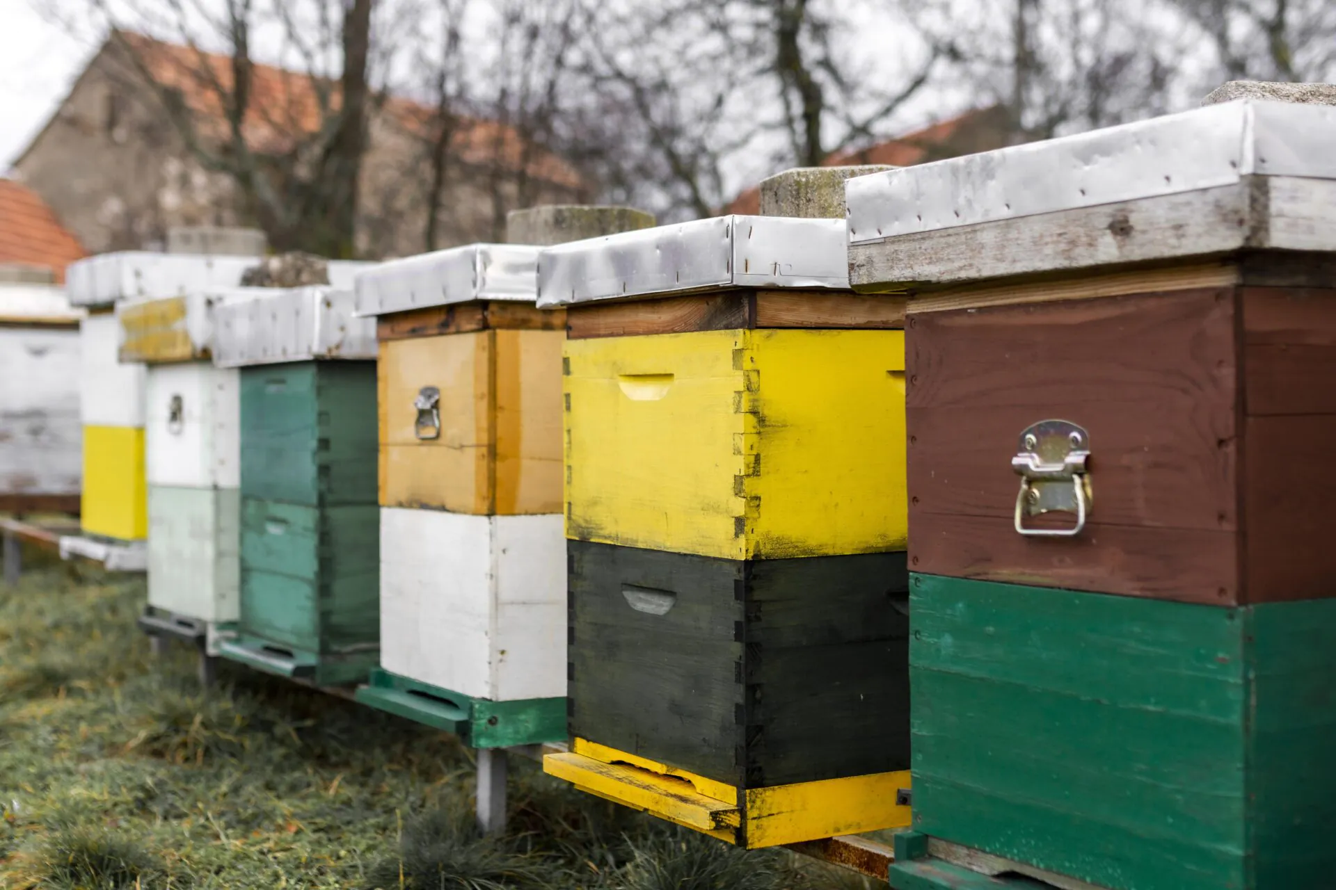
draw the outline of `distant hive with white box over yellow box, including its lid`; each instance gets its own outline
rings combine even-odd
[[[118,360],[115,306],[234,287],[254,264],[248,256],[127,251],[69,266],[69,302],[90,312],[80,327],[79,374],[86,534],[122,542],[143,540],[148,534],[144,367]]]

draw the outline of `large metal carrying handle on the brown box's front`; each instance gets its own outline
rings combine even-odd
[[[1021,434],[1021,448],[1011,468],[1021,476],[1015,496],[1014,524],[1031,538],[1075,538],[1090,515],[1092,491],[1088,462],[1090,435],[1069,420],[1041,420]],[[1074,512],[1070,528],[1030,528],[1026,516]]]

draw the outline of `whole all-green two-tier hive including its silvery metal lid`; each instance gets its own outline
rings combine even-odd
[[[275,290],[215,308],[239,368],[240,616],[223,655],[354,683],[377,660],[374,324],[353,294]]]

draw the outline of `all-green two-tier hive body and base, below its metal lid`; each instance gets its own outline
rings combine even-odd
[[[375,363],[240,368],[240,634],[224,654],[319,685],[378,662]]]

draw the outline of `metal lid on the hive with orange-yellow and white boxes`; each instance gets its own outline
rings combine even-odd
[[[385,315],[470,300],[534,302],[538,248],[469,244],[379,263],[357,276],[357,315]]]

